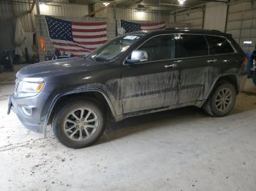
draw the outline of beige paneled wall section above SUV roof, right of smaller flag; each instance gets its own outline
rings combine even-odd
[[[187,10],[176,13],[176,22],[190,23],[191,28],[203,27],[203,9]]]

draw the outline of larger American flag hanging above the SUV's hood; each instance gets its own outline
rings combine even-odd
[[[45,20],[53,46],[73,56],[87,55],[107,42],[105,21],[76,22],[49,16]]]

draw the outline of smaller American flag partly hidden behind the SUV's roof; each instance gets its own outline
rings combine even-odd
[[[133,23],[126,20],[121,20],[121,27],[124,28],[126,33],[133,31],[143,31],[143,30],[157,30],[165,28],[165,22],[159,23]]]

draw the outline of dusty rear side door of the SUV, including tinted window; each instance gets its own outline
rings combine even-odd
[[[177,34],[179,63],[179,104],[202,100],[208,78],[208,44],[203,35]]]

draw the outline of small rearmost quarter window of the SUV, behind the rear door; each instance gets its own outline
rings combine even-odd
[[[225,54],[234,52],[230,43],[221,36],[206,36],[210,47],[210,55]]]

